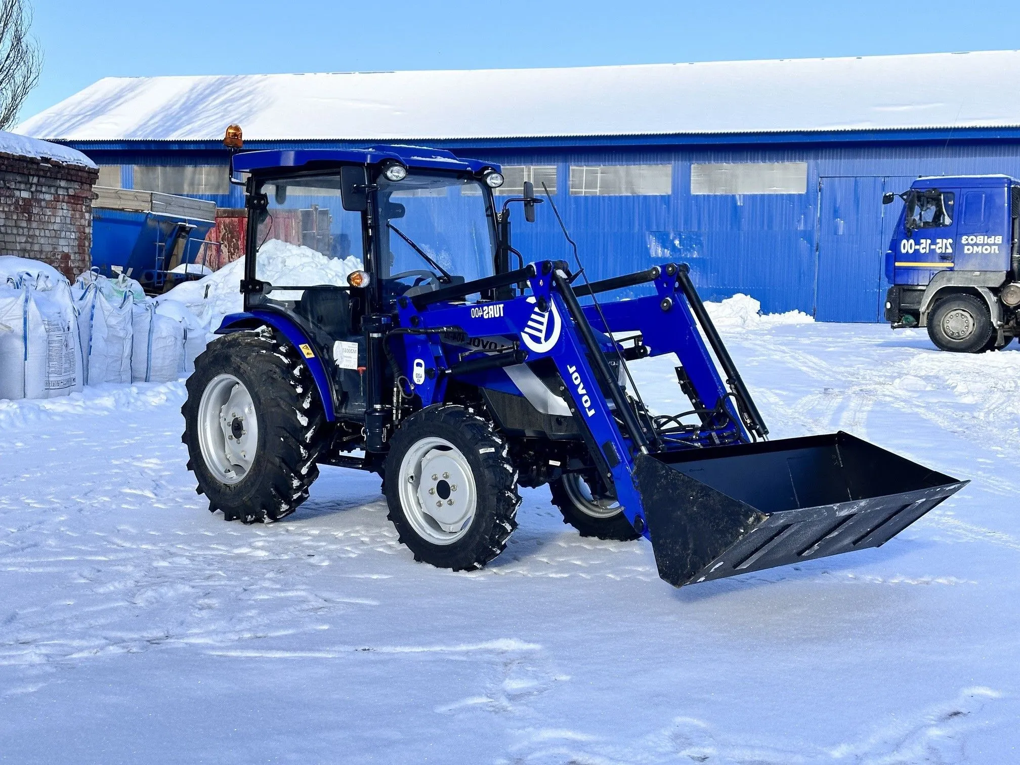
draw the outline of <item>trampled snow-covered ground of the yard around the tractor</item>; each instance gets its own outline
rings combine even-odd
[[[463,574],[397,545],[375,476],[324,468],[275,525],[206,512],[181,384],[0,402],[0,761],[1020,761],[1020,351],[727,342],[773,436],[973,482],[880,549],[682,590],[525,491]]]

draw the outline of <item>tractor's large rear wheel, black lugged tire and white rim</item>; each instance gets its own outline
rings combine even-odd
[[[187,387],[182,441],[211,512],[267,522],[308,499],[326,423],[290,342],[266,327],[215,340],[195,359]]]

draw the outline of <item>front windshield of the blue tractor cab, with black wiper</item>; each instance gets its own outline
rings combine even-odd
[[[447,284],[449,276],[470,282],[495,273],[493,226],[478,181],[410,172],[376,183],[385,279],[413,285],[430,282],[431,274],[434,284]]]

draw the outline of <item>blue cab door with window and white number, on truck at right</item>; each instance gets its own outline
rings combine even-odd
[[[911,189],[892,241],[894,284],[927,285],[957,255],[959,189]]]

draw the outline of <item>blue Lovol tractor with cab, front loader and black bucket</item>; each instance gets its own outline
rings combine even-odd
[[[415,559],[471,570],[505,548],[518,488],[549,484],[565,522],[644,537],[679,586],[881,545],[964,484],[845,432],[768,441],[687,266],[589,283],[529,260],[511,209],[532,221],[553,199],[498,165],[408,146],[232,161],[245,310],[183,408],[198,491],[227,520],[292,513],[318,464],[374,471]],[[269,283],[259,253],[311,204],[325,262],[358,267]],[[691,406],[659,414],[628,365],[670,354]]]

